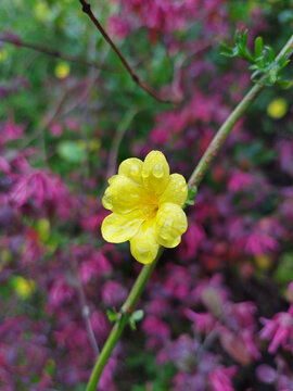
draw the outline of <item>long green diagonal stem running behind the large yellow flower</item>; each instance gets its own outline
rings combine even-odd
[[[282,55],[284,53],[286,53],[288,56],[290,56],[292,51],[293,51],[293,35],[291,36],[291,38],[289,39],[286,45],[283,47],[283,49],[280,52],[280,54],[278,55],[278,58],[280,58],[280,55]],[[278,60],[278,58],[277,58],[277,60]],[[227,136],[230,134],[230,131],[232,130],[235,123],[245,113],[247,108],[255,100],[255,98],[258,96],[258,93],[262,91],[263,88],[264,88],[264,86],[260,84],[255,85],[246,93],[246,96],[242,99],[242,101],[238,104],[238,106],[234,109],[234,111],[229,115],[229,117],[226,119],[226,122],[219,128],[216,136],[212,140],[209,147],[207,148],[206,152],[202,156],[200,163],[193,171],[193,173],[189,179],[189,182],[188,182],[189,187],[191,187],[193,185],[199,185],[199,182],[202,180],[204,174],[206,173],[212,161],[216,156],[219,148],[222,146],[224,141],[226,140]],[[153,263],[142,267],[126,302],[122,306],[118,319],[116,320],[116,323],[103,346],[103,350],[93,367],[93,370],[92,370],[92,374],[91,374],[91,377],[88,382],[86,391],[95,391],[97,390],[98,381],[102,375],[103,368],[105,367],[113,349],[115,348],[125,326],[127,325],[129,316],[131,315],[132,311],[135,310],[137,301],[140,298],[162,252],[163,252],[163,249],[160,250],[160,252]]]

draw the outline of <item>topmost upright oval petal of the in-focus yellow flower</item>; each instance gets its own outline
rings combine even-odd
[[[142,180],[146,190],[162,194],[169,181],[169,165],[160,151],[152,151],[148,154],[142,166]]]

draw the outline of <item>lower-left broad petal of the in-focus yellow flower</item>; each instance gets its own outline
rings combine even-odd
[[[112,213],[103,220],[102,236],[111,243],[122,243],[138,232],[143,220],[143,216],[138,210],[124,215]]]

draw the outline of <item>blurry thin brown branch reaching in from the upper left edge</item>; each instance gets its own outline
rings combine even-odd
[[[91,67],[94,67],[97,70],[111,71],[111,70],[102,67],[101,65],[97,64],[94,61],[82,60],[82,59],[75,58],[75,56],[69,55],[69,54],[64,54],[61,51],[55,50],[55,49],[49,49],[49,48],[46,48],[46,47],[40,46],[40,45],[29,43],[29,42],[26,42],[26,41],[22,40],[17,36],[10,34],[10,33],[0,36],[0,41],[11,43],[11,45],[14,45],[14,46],[20,47],[20,48],[33,49],[35,51],[44,53],[47,55],[54,56],[56,59],[71,61],[71,62],[81,64],[81,65],[86,65],[86,66],[91,66]]]

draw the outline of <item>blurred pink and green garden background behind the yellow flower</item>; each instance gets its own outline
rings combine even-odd
[[[0,1],[2,391],[85,390],[106,311],[141,267],[101,238],[106,179],[152,149],[188,178],[252,85],[219,42],[249,28],[250,45],[260,35],[278,51],[293,27],[291,0],[92,9],[141,78],[181,102],[138,88],[78,0]],[[292,98],[266,88],[233,129],[99,390],[293,390]]]

